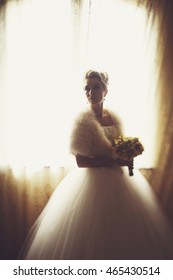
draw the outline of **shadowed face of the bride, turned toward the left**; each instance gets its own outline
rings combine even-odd
[[[89,103],[94,106],[103,102],[107,92],[101,81],[97,78],[90,78],[86,80],[85,93]]]

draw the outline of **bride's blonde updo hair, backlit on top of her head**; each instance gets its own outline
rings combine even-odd
[[[100,82],[103,85],[103,88],[106,91],[108,90],[109,77],[108,77],[108,74],[106,72],[97,72],[97,71],[94,71],[94,70],[89,70],[89,71],[86,72],[84,78],[85,78],[85,80],[96,78],[96,79],[100,80]]]

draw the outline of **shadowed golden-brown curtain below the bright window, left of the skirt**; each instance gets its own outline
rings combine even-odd
[[[16,259],[21,246],[52,192],[67,174],[65,168],[49,167],[28,177],[23,168],[14,175],[11,168],[0,171],[0,259]]]

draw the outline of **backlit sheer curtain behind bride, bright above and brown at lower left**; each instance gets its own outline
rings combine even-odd
[[[87,106],[82,90],[86,70],[109,73],[105,106],[120,115],[125,133],[139,136],[145,146],[136,167],[156,164],[155,54],[162,9],[149,3],[20,0],[4,6],[0,26],[3,257],[16,256],[68,172],[64,167],[71,166],[70,130],[75,116]],[[154,185],[153,172],[149,180]]]

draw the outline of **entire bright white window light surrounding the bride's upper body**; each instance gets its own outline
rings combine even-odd
[[[84,1],[74,50],[71,1],[48,2],[8,3],[7,163],[33,170],[67,163],[72,121],[85,106],[82,76],[94,68],[109,73],[105,106],[118,112],[128,136],[140,137],[146,153],[137,162],[150,165],[154,118],[146,108],[154,44],[147,45],[145,11],[118,0],[92,1],[88,19]]]

